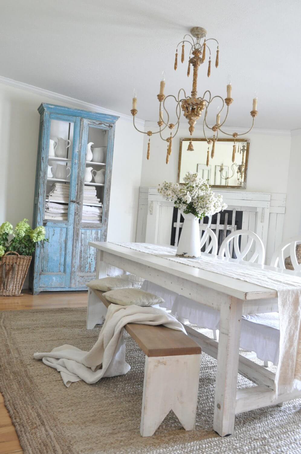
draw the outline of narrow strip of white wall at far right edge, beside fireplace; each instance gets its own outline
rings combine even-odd
[[[291,131],[291,153],[286,190],[283,238],[301,234],[301,129]]]

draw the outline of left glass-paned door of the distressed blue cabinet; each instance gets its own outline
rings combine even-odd
[[[39,204],[49,242],[41,248],[38,287],[70,286],[79,132],[80,119],[67,115],[50,114],[44,125]]]

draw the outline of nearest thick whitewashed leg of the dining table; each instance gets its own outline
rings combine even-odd
[[[242,308],[231,296],[220,310],[213,428],[222,437],[234,430]]]

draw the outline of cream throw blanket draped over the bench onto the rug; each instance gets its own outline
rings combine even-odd
[[[124,375],[131,369],[126,363],[126,347],[122,335],[127,323],[164,325],[186,334],[178,320],[160,309],[110,304],[98,340],[90,351],[62,345],[50,353],[34,353],[34,358],[43,360],[44,364],[58,370],[66,386],[79,380],[91,384],[102,377]]]

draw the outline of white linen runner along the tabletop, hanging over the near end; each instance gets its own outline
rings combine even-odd
[[[275,378],[275,395],[301,390],[301,278],[261,265],[230,262],[226,258],[202,256],[200,260],[175,257],[176,249],[147,243],[119,243],[135,251],[233,277],[241,281],[276,290],[279,312],[279,359]]]

